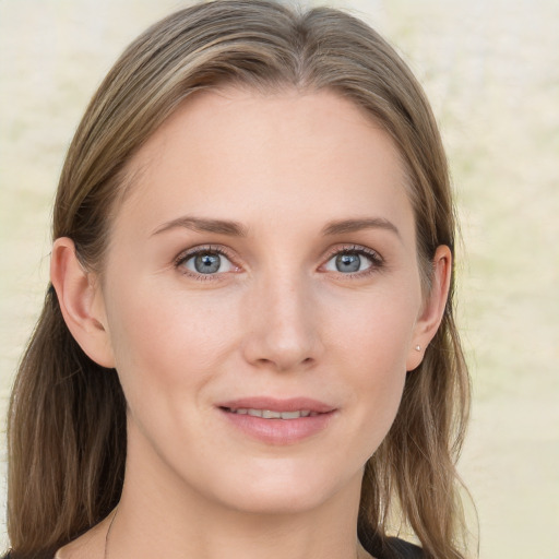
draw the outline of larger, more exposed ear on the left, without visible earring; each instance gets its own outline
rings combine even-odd
[[[102,367],[115,367],[100,287],[95,274],[83,269],[68,237],[55,241],[50,281],[64,322],[80,347]]]

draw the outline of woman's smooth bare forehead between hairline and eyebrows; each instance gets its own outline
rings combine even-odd
[[[180,211],[223,218],[234,211],[243,219],[249,209],[282,215],[301,206],[308,219],[323,218],[324,206],[411,215],[393,141],[330,91],[198,92],[142,146],[129,173],[124,205],[147,221]]]

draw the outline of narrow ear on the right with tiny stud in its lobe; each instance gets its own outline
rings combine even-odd
[[[408,371],[417,368],[423,361],[425,349],[435,337],[444,314],[452,273],[452,253],[449,247],[437,248],[432,266],[431,289],[414,326],[412,347],[406,360]]]

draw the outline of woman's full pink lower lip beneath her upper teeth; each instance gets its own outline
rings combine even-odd
[[[294,444],[323,431],[334,412],[297,419],[263,419],[248,414],[219,412],[241,432],[267,444]]]

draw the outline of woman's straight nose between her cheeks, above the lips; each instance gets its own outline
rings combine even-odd
[[[317,305],[301,278],[262,282],[247,295],[243,354],[252,366],[275,371],[312,367],[323,353]]]

